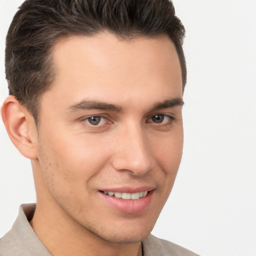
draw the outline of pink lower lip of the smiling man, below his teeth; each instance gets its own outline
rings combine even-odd
[[[149,206],[152,201],[153,190],[149,191],[146,196],[135,200],[126,200],[115,196],[109,196],[102,192],[99,193],[114,209],[125,213],[138,213]]]

